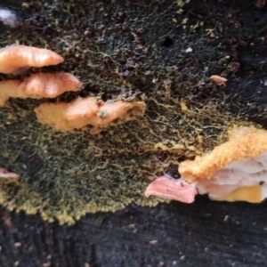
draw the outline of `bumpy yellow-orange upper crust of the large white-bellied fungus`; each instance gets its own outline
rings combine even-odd
[[[211,179],[214,173],[231,163],[255,158],[267,151],[267,131],[254,127],[234,128],[229,141],[217,146],[209,154],[195,160],[185,160],[179,166],[182,178],[187,182]]]

